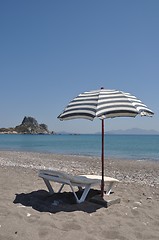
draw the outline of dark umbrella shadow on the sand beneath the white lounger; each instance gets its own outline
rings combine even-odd
[[[77,204],[72,192],[54,193],[50,195],[45,190],[38,190],[30,193],[16,194],[13,203],[22,204],[25,207],[32,207],[38,212],[58,213],[83,211],[93,213],[103,207],[90,201],[93,196],[99,193],[98,190],[91,189],[86,201]],[[77,192],[77,196],[80,196],[80,194],[80,192]]]

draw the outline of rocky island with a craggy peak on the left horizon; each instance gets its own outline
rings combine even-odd
[[[53,134],[44,123],[39,124],[33,117],[24,117],[22,123],[16,127],[0,128],[0,134]]]

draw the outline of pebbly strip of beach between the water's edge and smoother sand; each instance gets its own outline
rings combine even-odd
[[[0,166],[54,169],[73,175],[101,175],[100,157],[84,155],[0,151]],[[159,184],[159,161],[105,159],[105,175],[124,182]]]

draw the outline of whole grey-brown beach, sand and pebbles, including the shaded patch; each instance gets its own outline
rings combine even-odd
[[[73,203],[67,187],[53,200],[38,177],[44,168],[101,174],[97,157],[0,151],[0,240],[159,239],[159,162],[106,159],[105,175],[120,180],[112,196],[121,199],[108,208]]]

